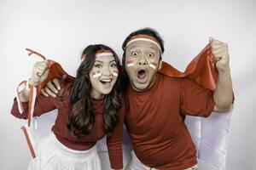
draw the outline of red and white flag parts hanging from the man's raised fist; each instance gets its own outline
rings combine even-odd
[[[210,44],[189,63],[184,72],[177,71],[172,65],[162,63],[159,71],[169,77],[188,77],[201,86],[214,90],[218,82],[216,59]],[[211,116],[187,116],[186,124],[195,143],[198,159],[218,170],[226,169],[227,139],[230,131],[232,110],[214,113]]]

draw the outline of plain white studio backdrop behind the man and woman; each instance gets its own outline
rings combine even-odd
[[[208,42],[228,42],[236,94],[228,170],[256,168],[256,2],[241,1],[15,1],[0,0],[0,169],[26,169],[23,121],[10,116],[18,82],[30,77],[32,48],[75,75],[85,46],[104,43],[122,55],[125,37],[149,26],[164,38],[163,59],[183,71]],[[218,128],[218,127],[217,127]],[[205,169],[201,167],[201,169]]]

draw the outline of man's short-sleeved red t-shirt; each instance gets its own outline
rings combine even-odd
[[[184,119],[186,115],[211,114],[212,90],[188,78],[158,73],[153,87],[145,92],[130,86],[127,102],[125,123],[140,161],[168,170],[185,169],[197,163],[195,145]]]

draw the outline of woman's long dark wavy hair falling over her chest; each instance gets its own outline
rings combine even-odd
[[[89,45],[84,48],[83,54],[86,55],[77,71],[77,76],[71,87],[70,106],[71,111],[68,116],[67,129],[74,137],[90,134],[95,126],[95,114],[91,107],[90,91],[92,89],[90,83],[89,72],[94,66],[96,52],[98,50],[110,50],[116,61],[117,68],[120,71],[119,57],[112,48],[102,44]],[[104,99],[104,120],[103,124],[107,135],[111,135],[113,128],[119,122],[118,111],[121,107],[120,78],[113,85],[110,94]]]

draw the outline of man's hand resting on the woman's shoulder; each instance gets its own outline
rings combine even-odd
[[[61,90],[61,85],[58,79],[53,79],[52,81],[47,82],[46,87],[41,90],[41,93],[46,97],[56,97],[58,90]]]

